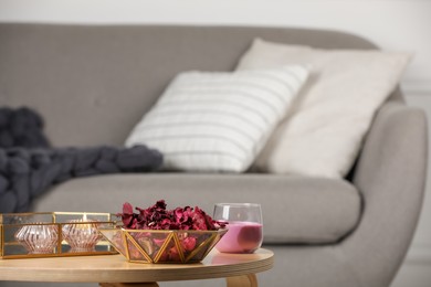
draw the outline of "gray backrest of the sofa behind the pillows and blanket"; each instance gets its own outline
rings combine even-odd
[[[28,106],[52,144],[123,145],[172,77],[231,71],[255,36],[377,49],[356,35],[252,26],[0,24],[0,106]]]

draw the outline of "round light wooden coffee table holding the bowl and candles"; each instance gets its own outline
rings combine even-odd
[[[274,254],[227,254],[213,249],[197,264],[129,263],[123,255],[0,259],[0,280],[99,283],[103,287],[149,287],[157,281],[227,278],[229,287],[257,286]]]

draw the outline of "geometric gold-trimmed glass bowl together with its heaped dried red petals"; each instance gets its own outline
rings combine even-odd
[[[123,204],[123,226],[99,230],[129,262],[201,262],[228,232],[200,208],[167,210],[164,200],[147,209]]]

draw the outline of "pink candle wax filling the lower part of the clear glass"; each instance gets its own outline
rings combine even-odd
[[[219,252],[253,253],[262,245],[262,224],[255,222],[229,222],[228,233],[216,245]]]

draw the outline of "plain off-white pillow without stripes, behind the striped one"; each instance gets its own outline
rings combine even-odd
[[[253,168],[343,178],[372,117],[396,88],[411,55],[378,50],[319,50],[255,39],[236,70],[311,64],[313,73]]]

